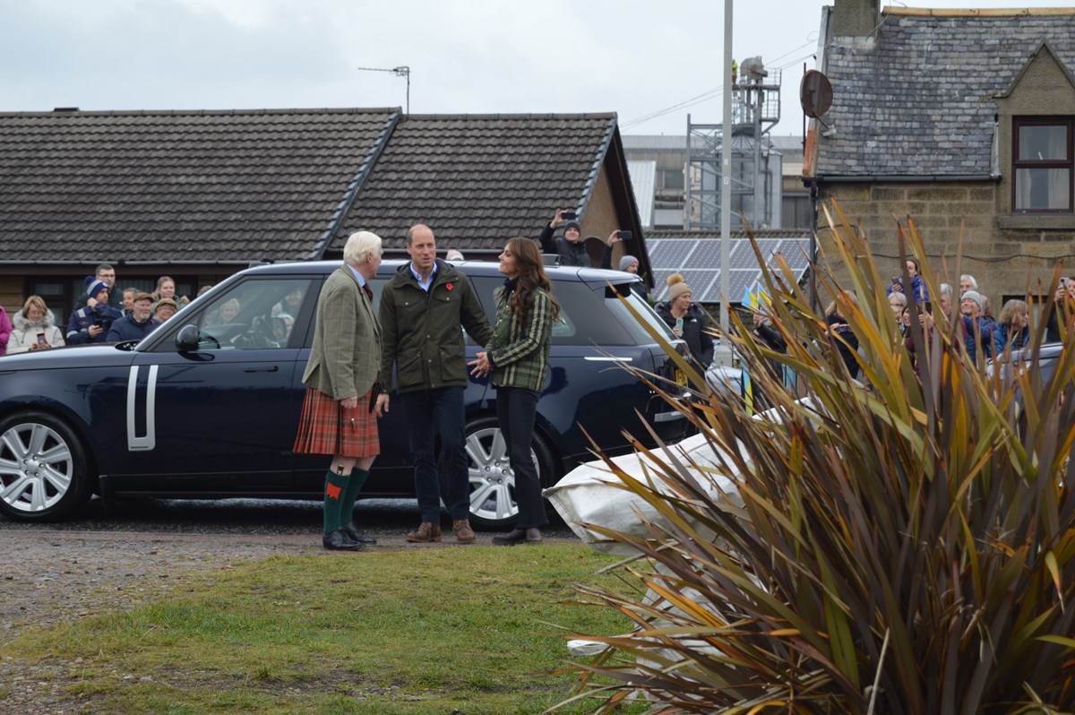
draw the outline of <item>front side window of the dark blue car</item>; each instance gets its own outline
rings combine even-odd
[[[199,349],[255,351],[297,347],[292,332],[306,302],[310,278],[258,277],[240,281],[206,304],[195,318]]]

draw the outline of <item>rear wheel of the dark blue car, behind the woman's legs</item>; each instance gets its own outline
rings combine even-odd
[[[539,434],[530,442],[530,456],[538,466],[542,486],[549,486],[553,455]],[[508,463],[504,435],[494,417],[481,417],[467,424],[467,460],[471,520],[483,529],[513,528],[519,514],[515,502],[515,472]]]

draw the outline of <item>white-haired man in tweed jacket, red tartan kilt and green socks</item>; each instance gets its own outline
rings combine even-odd
[[[377,543],[354,523],[355,501],[381,453],[374,413],[381,367],[381,325],[368,282],[381,266],[381,238],[353,233],[344,264],[325,282],[317,299],[314,344],[302,374],[297,454],[332,455],[325,475],[325,548],[359,550]]]

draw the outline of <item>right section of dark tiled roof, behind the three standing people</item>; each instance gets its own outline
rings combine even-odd
[[[403,117],[328,253],[356,230],[402,249],[417,223],[463,251],[536,238],[555,209],[585,204],[615,130],[615,114]]]

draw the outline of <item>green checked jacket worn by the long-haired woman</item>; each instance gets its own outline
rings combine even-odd
[[[530,310],[520,323],[508,311],[513,292],[514,285],[497,291],[497,324],[486,346],[492,362],[492,385],[541,392],[553,343],[553,300],[545,290],[534,288],[530,294]]]

